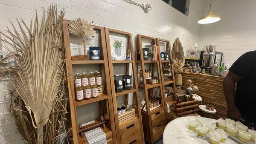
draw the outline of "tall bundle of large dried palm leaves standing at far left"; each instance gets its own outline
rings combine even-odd
[[[30,26],[18,21],[20,32],[13,24],[15,32],[7,31],[11,36],[1,32],[8,39],[3,41],[14,49],[7,58],[14,58],[16,65],[1,69],[0,75],[10,74],[10,111],[18,131],[30,144],[57,143],[67,112],[63,17],[64,11],[57,15],[57,6],[51,5],[46,20],[43,14],[41,27],[36,12]]]

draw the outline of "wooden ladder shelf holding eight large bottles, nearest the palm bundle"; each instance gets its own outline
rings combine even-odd
[[[68,31],[69,20],[63,20],[63,35],[64,35],[64,44],[66,48],[66,65],[67,65],[67,83],[68,83],[68,91],[69,91],[69,121],[72,127],[72,140],[74,144],[87,144],[87,140],[85,137],[82,138],[79,135],[79,124],[77,123],[77,113],[76,109],[78,106],[91,104],[94,102],[98,102],[100,104],[99,108],[99,117],[103,117],[105,120],[109,122],[106,124],[106,127],[101,127],[101,129],[105,132],[107,137],[108,144],[116,144],[116,129],[115,122],[113,121],[114,113],[113,113],[113,103],[112,103],[112,95],[111,95],[111,84],[110,77],[108,71],[108,57],[107,57],[107,49],[106,49],[106,39],[105,39],[105,31],[104,28],[99,26],[94,26],[94,30],[99,31],[99,45],[101,47],[101,58],[102,60],[71,60],[71,49],[70,49],[70,34]],[[73,79],[73,65],[74,64],[99,64],[99,69],[102,73],[102,86],[103,86],[103,94],[98,95],[98,98],[91,98],[89,100],[76,101],[75,99],[75,91],[74,91],[74,79]],[[108,109],[108,110],[107,110]],[[108,112],[107,112],[108,111]],[[86,112],[86,111],[85,111]],[[88,111],[87,111],[88,112]]]

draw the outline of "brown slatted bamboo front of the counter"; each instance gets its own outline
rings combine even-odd
[[[186,90],[189,86],[186,81],[192,80],[192,84],[198,86],[198,92],[195,94],[202,97],[202,104],[212,103],[217,110],[218,118],[227,118],[227,101],[225,99],[223,91],[223,77],[201,74],[201,73],[192,73],[192,72],[183,72],[182,73],[182,88]],[[214,115],[207,115],[214,118]]]

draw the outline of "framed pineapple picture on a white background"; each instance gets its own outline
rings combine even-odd
[[[125,60],[126,57],[126,37],[109,35],[111,43],[111,55],[115,60]]]

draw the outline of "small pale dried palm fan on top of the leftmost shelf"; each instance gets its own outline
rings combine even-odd
[[[73,35],[82,36],[83,45],[84,45],[84,55],[85,55],[85,47],[86,47],[86,37],[92,36],[96,33],[93,30],[94,26],[91,23],[87,23],[87,20],[84,19],[75,19],[68,24],[68,30]]]

